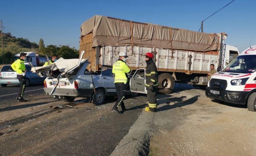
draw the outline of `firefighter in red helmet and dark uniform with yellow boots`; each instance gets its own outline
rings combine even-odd
[[[156,111],[157,109],[157,87],[158,87],[158,80],[157,80],[157,66],[153,62],[154,55],[150,52],[146,54],[146,87],[147,87],[147,101],[148,105],[145,110],[146,111]]]

